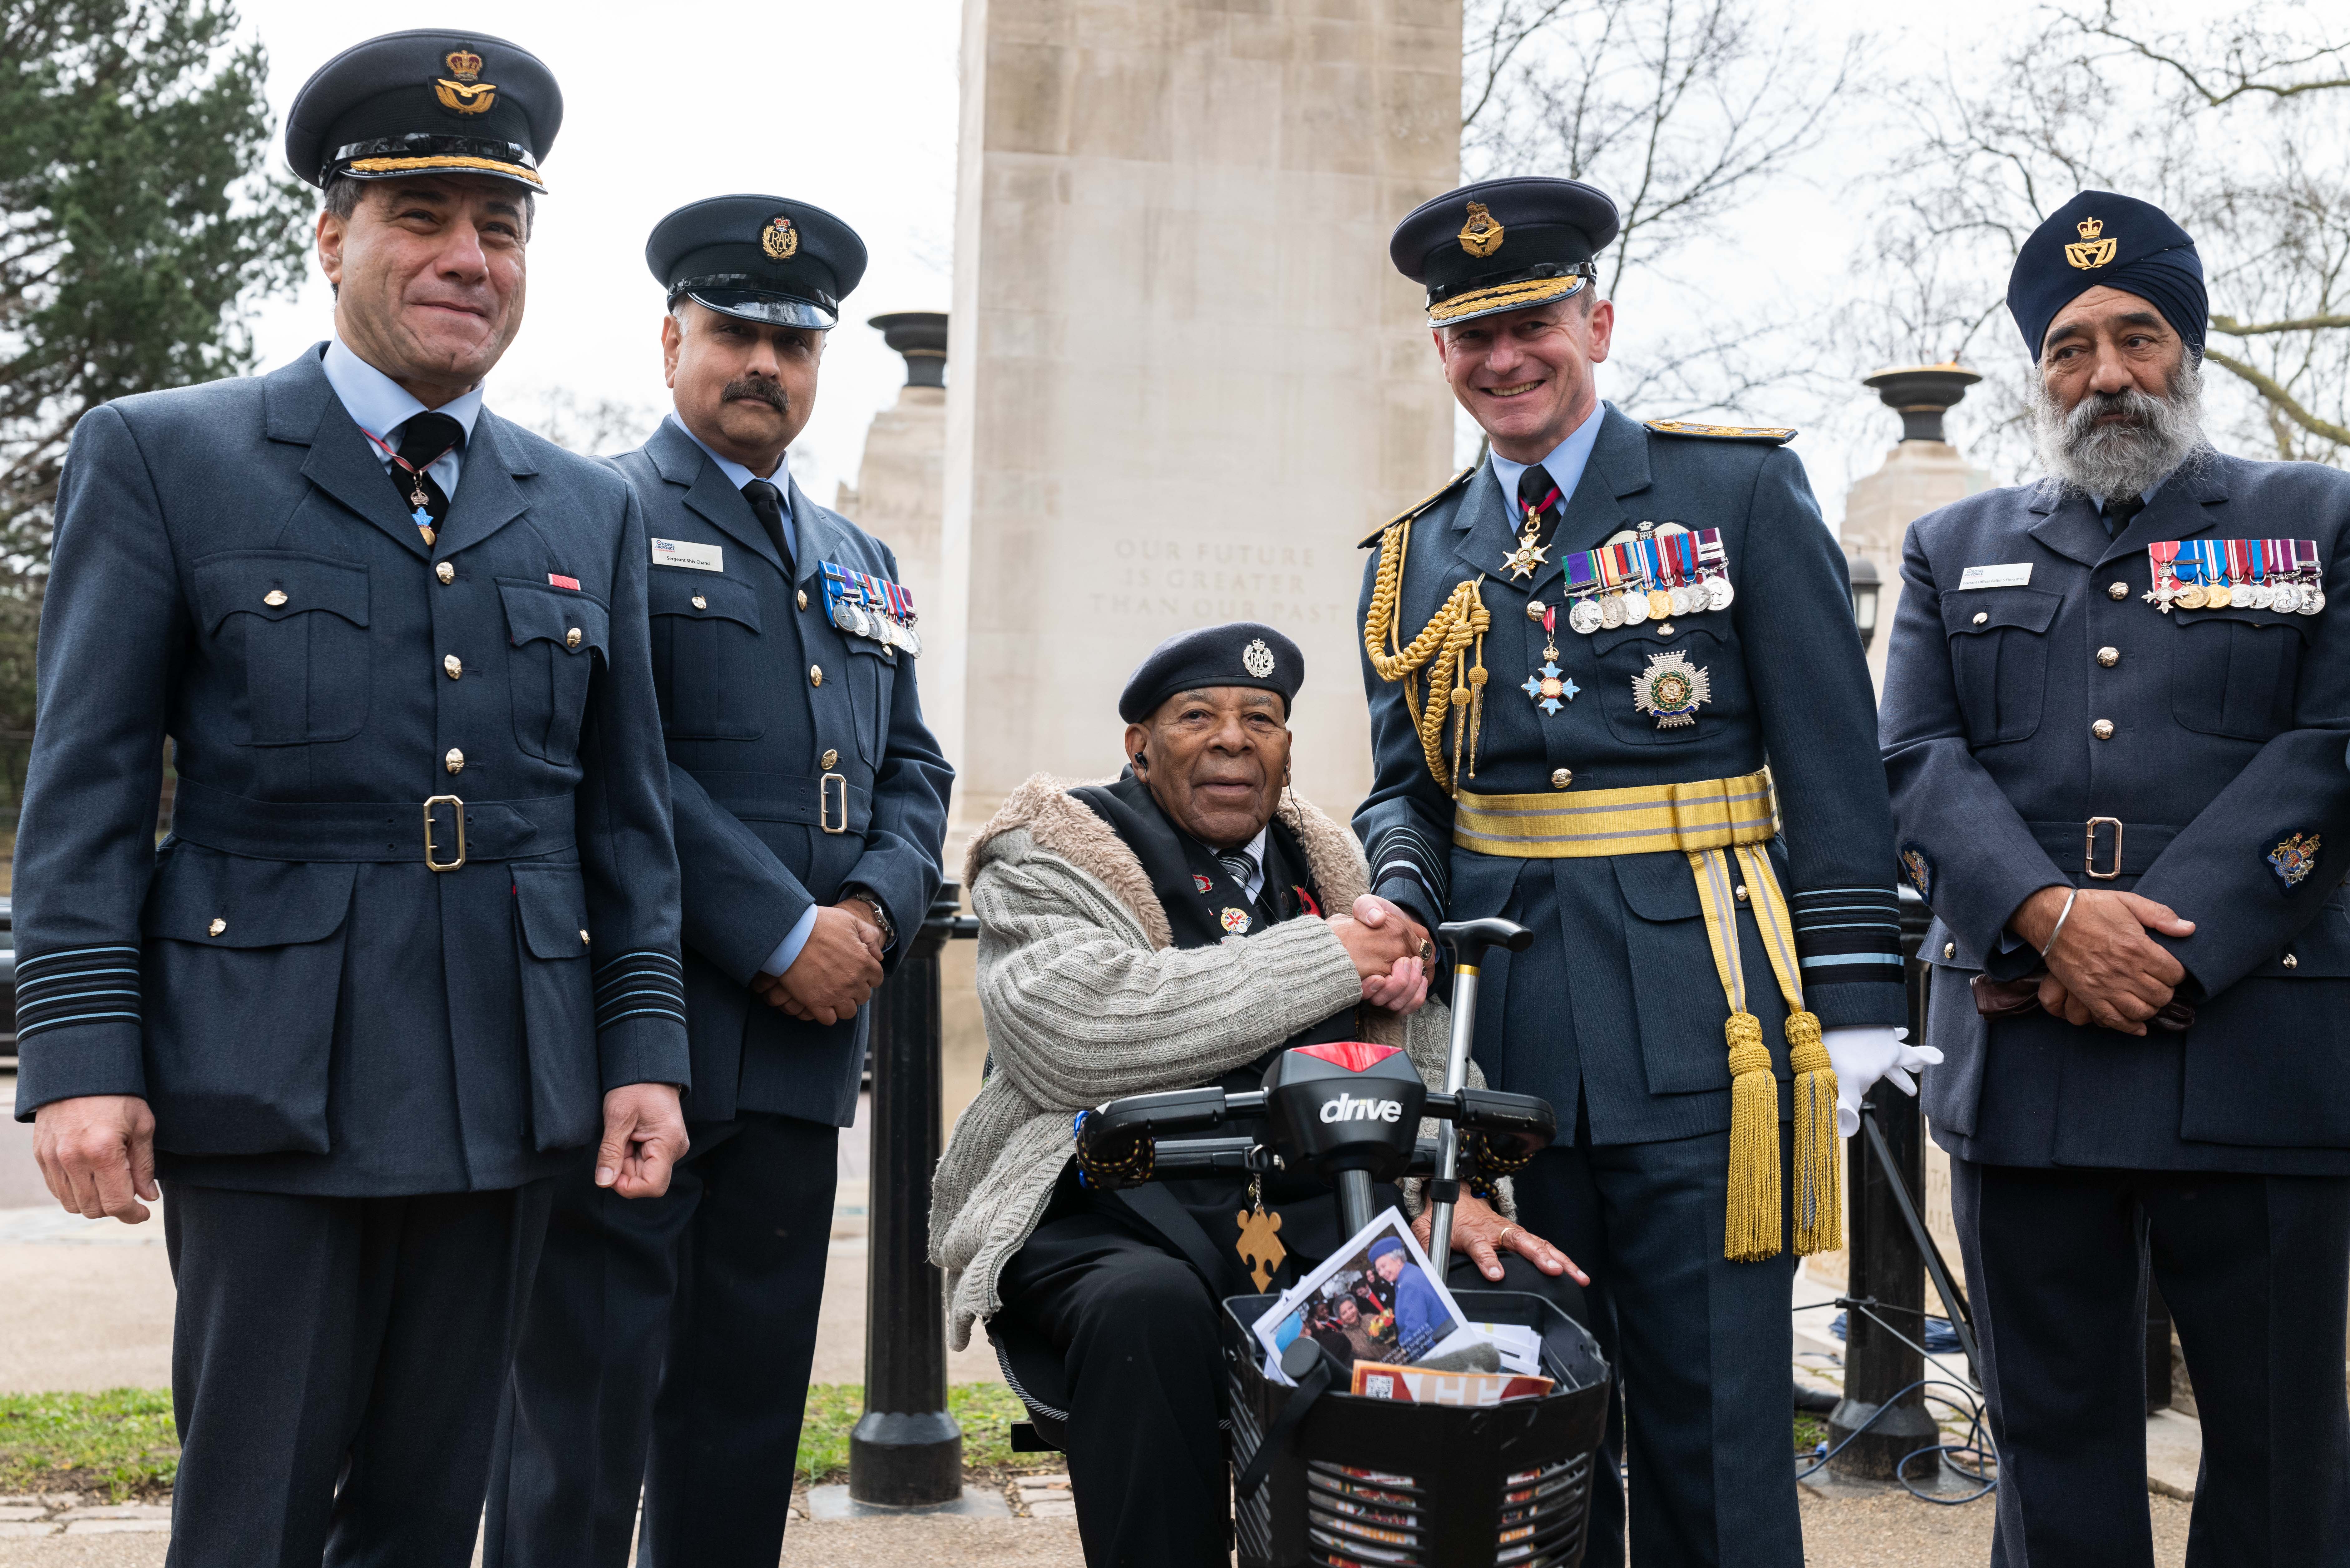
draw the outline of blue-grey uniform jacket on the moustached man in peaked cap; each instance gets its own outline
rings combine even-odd
[[[792,484],[797,559],[785,576],[750,501],[674,421],[613,463],[653,538],[714,548],[724,567],[656,564],[649,583],[686,896],[686,1110],[698,1121],[754,1110],[848,1126],[865,1009],[830,1027],[801,1023],[750,983],[811,905],[851,884],[888,905],[888,964],[938,893],[954,771],[921,722],[914,658],[825,616],[825,562],[891,581],[898,562]]]

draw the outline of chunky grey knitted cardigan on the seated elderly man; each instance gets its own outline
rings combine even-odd
[[[947,1272],[956,1349],[1001,1309],[996,1279],[1053,1199],[1079,1110],[1206,1084],[1363,997],[1321,919],[1175,947],[1142,860],[1069,788],[1046,773],[1022,783],[964,863],[994,1060],[931,1187],[931,1262]],[[1368,882],[1354,835],[1290,792],[1278,816],[1325,907],[1351,907]],[[1361,1037],[1403,1046],[1431,1086],[1450,1032],[1436,1001],[1410,1018],[1361,1013]],[[1483,1086],[1476,1067],[1471,1084]]]

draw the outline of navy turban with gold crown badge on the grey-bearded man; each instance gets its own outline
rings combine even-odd
[[[2089,289],[2136,294],[2162,313],[2195,353],[2211,327],[2195,237],[2153,202],[2113,190],[2082,190],[2049,214],[2016,252],[2007,275],[2007,313],[2023,350],[2040,360],[2049,322]]]

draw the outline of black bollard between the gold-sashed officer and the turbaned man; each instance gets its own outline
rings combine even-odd
[[[1908,978],[1908,1027],[1913,1041],[1925,1041],[1925,1004],[1932,969],[1918,959],[1918,945],[1932,919],[1915,893],[1901,889],[1901,957]],[[1828,1469],[1868,1481],[1892,1481],[1901,1458],[1941,1441],[1925,1408],[1925,1389],[1911,1387],[1925,1378],[1925,1359],[1901,1340],[1925,1342],[1925,1255],[1901,1215],[1901,1201],[1889,1175],[1908,1192],[1925,1192],[1925,1124],[1918,1100],[1894,1084],[1868,1091],[1868,1117],[1885,1135],[1887,1161],[1873,1152],[1866,1135],[1845,1145],[1845,1220],[1852,1227],[1845,1281],[1845,1399],[1828,1415],[1828,1448],[1845,1443]],[[1866,1312],[1861,1309],[1866,1307]],[[1885,1319],[1878,1324],[1868,1316]],[[1899,1338],[1896,1338],[1896,1333]],[[1901,1389],[1908,1389],[1906,1394]],[[1892,1401],[1889,1410],[1880,1410]],[[1927,1460],[1913,1472],[1932,1476]],[[1913,1474],[1913,1479],[1920,1479]]]

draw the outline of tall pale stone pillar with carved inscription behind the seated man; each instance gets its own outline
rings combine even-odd
[[[1356,541],[1448,475],[1386,235],[1459,174],[1459,0],[968,0],[945,592],[924,696],[959,844],[1119,766],[1159,639],[1307,656],[1297,790],[1370,783]]]

